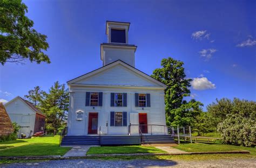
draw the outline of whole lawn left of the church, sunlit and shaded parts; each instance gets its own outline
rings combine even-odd
[[[59,147],[59,136],[33,137],[0,143],[0,156],[64,155],[71,148]]]

